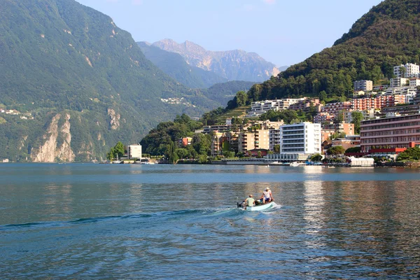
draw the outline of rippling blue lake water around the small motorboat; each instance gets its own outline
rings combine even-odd
[[[418,169],[0,165],[1,279],[420,274]],[[237,197],[269,186],[276,207]]]

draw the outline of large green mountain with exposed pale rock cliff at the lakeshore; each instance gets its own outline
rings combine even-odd
[[[218,102],[163,73],[109,16],[73,0],[4,0],[0,158],[99,159],[117,141]]]

